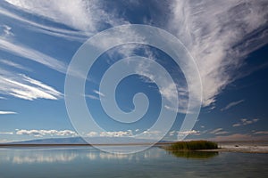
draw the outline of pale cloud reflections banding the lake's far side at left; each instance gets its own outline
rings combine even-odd
[[[11,162],[13,164],[33,164],[33,163],[53,163],[71,162],[75,159],[88,160],[131,160],[139,161],[147,158],[160,158],[163,151],[160,149],[150,149],[134,154],[114,154],[106,153],[95,149],[44,149],[44,150],[0,150],[0,163]]]

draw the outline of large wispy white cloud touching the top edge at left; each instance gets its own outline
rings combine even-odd
[[[13,4],[21,11],[32,13],[38,17],[52,20],[57,23],[64,24],[73,28],[73,30],[63,30],[61,28],[49,28],[43,27],[42,24],[38,24],[35,21],[25,20],[21,17],[17,17],[14,13],[4,12],[9,17],[16,18],[34,25],[40,29],[46,29],[46,32],[53,31],[55,36],[63,35],[67,37],[69,35],[76,36],[91,36],[95,34],[103,24],[110,26],[117,26],[120,24],[128,23],[125,20],[117,17],[114,11],[106,12],[104,8],[104,2],[91,0],[91,1],[64,1],[64,0],[48,0],[48,1],[28,1],[28,0],[6,0],[6,2]],[[76,31],[80,33],[76,33]]]

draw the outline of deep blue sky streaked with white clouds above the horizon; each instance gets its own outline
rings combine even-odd
[[[175,113],[163,140],[174,141],[180,135],[190,140],[267,140],[267,8],[266,0],[1,1],[0,142],[80,134],[87,137],[140,134],[147,139],[160,138],[161,131],[149,128],[157,121],[162,108],[171,117]],[[96,132],[88,126],[88,132],[82,133],[75,126],[76,118],[70,118],[66,108],[68,96],[64,85],[68,67],[90,37],[130,24],[161,28],[180,39],[197,65],[202,88],[198,82],[188,83],[195,72],[190,70],[185,77],[181,66],[155,46],[121,44],[106,49],[108,44],[140,37],[123,28],[121,36],[108,36],[105,43],[96,41],[105,53],[88,71],[85,93],[80,93],[96,124],[105,131]],[[138,121],[121,123],[105,112],[102,101],[107,101],[110,95],[100,92],[100,83],[107,69],[133,56],[151,61],[132,63],[129,59],[116,70],[133,70],[139,74],[124,77],[116,86],[117,109],[135,111],[132,100],[138,96],[136,93],[145,93],[148,103],[138,102],[137,106],[141,107],[136,106],[137,109],[143,109],[133,115],[141,115]],[[155,63],[163,66],[174,83],[162,79]],[[80,77],[80,70],[71,75]],[[190,114],[189,86],[194,95],[202,91],[203,100],[194,127],[180,130],[183,118]],[[162,101],[171,105],[162,105]],[[120,117],[113,109],[116,104],[110,103],[108,108],[112,108],[114,117]],[[76,107],[79,109],[80,105]],[[165,119],[171,122],[172,118]]]

